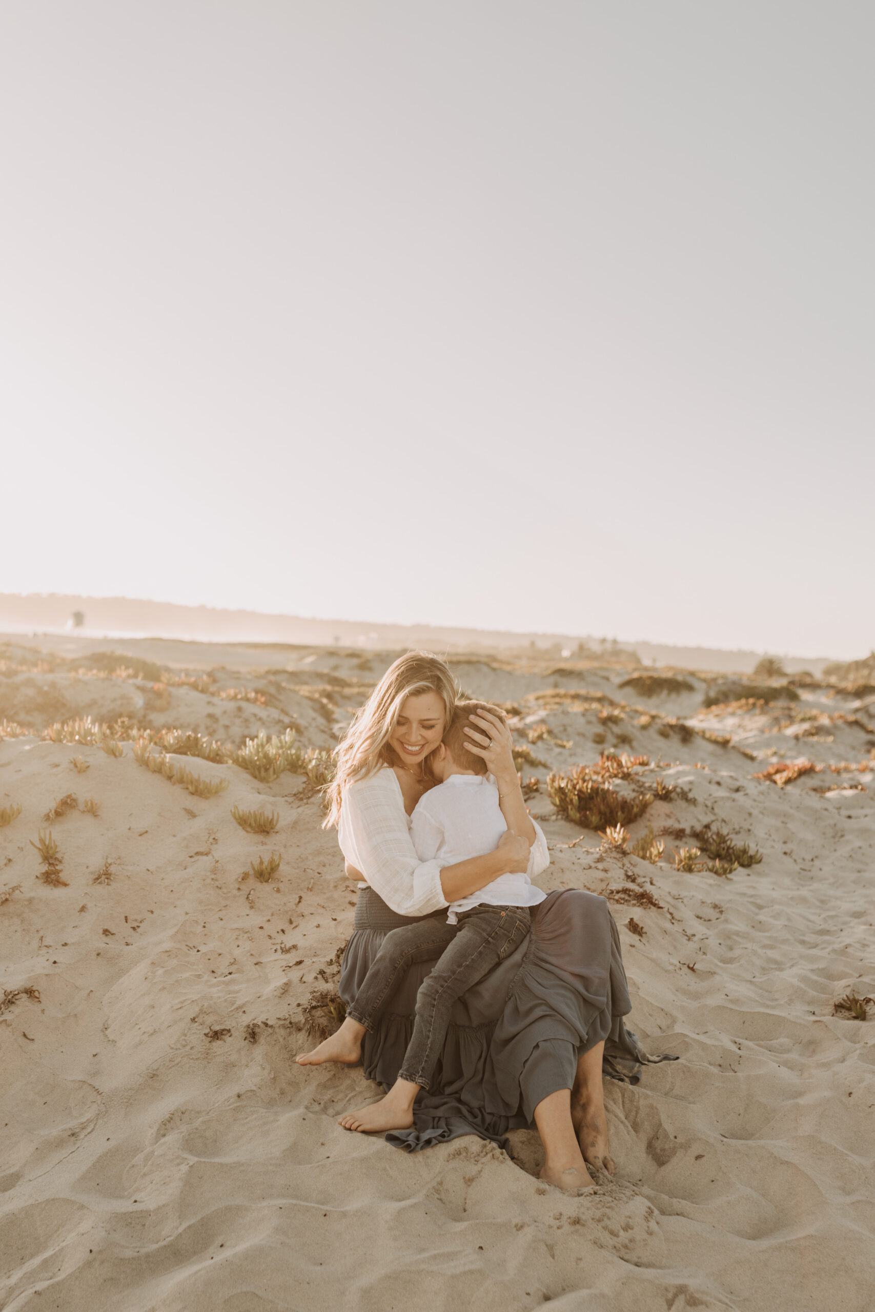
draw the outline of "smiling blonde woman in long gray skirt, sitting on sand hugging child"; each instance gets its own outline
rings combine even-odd
[[[526,810],[510,731],[497,716],[472,716],[470,749],[499,785],[508,833],[493,853],[441,869],[420,862],[409,816],[433,783],[428,757],[439,744],[457,690],[446,664],[408,652],[386,672],[337,748],[325,825],[338,827],[346,869],[362,878],[340,996],[352,1002],[384,934],[411,918],[446,916],[449,903],[504,871],[535,878],[547,844]],[[416,992],[432,962],[417,963],[375,1030],[345,1021],[302,1065],[363,1061],[391,1086],[412,1031]],[[638,1078],[651,1060],[623,1026],[631,1010],[617,926],[603,897],[554,892],[531,908],[531,935],[457,1004],[442,1067],[420,1096],[413,1128],[387,1135],[409,1151],[464,1134],[501,1143],[534,1120],[544,1145],[542,1178],[589,1186],[585,1162],[613,1173],[602,1068]],[[606,1056],[606,1043],[609,1055]],[[621,1065],[622,1063],[622,1065]],[[379,1131],[380,1103],[342,1117],[349,1130]]]

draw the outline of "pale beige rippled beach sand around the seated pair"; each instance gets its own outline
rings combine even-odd
[[[530,807],[552,849],[543,887],[614,899],[645,890],[661,904],[615,900],[614,913],[630,1025],[681,1060],[638,1086],[607,1081],[617,1178],[569,1198],[538,1182],[531,1131],[512,1135],[510,1155],[466,1138],[407,1156],[337,1127],[378,1093],[361,1071],[295,1065],[314,1043],[307,1004],[336,987],[354,901],[303,777],[265,785],[234,765],[174,758],[228,781],[201,799],[138,765],[131,743],[115,758],[39,737],[62,707],[228,741],[296,722],[324,747],[388,655],[362,668],[359,656],[314,649],[291,670],[216,672],[216,689],[261,689],[264,706],[4,655],[0,718],[34,733],[0,741],[0,808],[22,806],[0,828],[0,896],[21,886],[0,905],[10,991],[0,1307],[872,1308],[875,1010],[866,1022],[833,1014],[850,991],[875,996],[871,697],[812,685],[792,706],[704,711],[694,676],[689,690],[648,698],[618,686],[628,669],[457,665],[467,691],[516,703],[519,744],[538,724],[571,744],[542,736],[530,747],[544,765],[523,766],[542,781]],[[714,820],[762,862],[728,878],[685,874],[670,849],[691,840],[672,834],[657,865],[600,850],[598,834],[554,812],[543,781],[603,747],[665,762],[644,778],[685,790],[653,803],[632,838],[648,823]],[[784,787],[753,778],[799,757],[823,769]],[[830,773],[841,761],[858,769]],[[98,815],[46,823],[68,792],[93,796]],[[273,808],[277,832],[245,833],[235,804]],[[38,878],[30,840],[47,828],[66,887]],[[270,883],[241,879],[272,851],[282,862]],[[96,883],[108,861],[109,882]],[[25,989],[35,994],[14,994]]]

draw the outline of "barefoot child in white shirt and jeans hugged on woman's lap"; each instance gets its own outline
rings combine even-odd
[[[458,703],[443,741],[430,757],[438,786],[424,794],[411,817],[411,838],[420,861],[437,859],[442,866],[451,866],[484,855],[495,850],[508,828],[499,789],[487,774],[485,761],[466,749],[463,727],[468,716],[481,708],[484,703],[480,702]],[[504,719],[496,707],[485,708]],[[357,1060],[362,1035],[374,1029],[408,967],[415,962],[438,960],[417,993],[413,1035],[396,1084],[379,1103],[342,1117],[340,1124],[369,1131],[413,1124],[413,1102],[420,1089],[430,1085],[453,1004],[523,942],[530,929],[529,907],[544,897],[527,875],[505,874],[451,903],[446,920],[429,917],[386,934],[346,1010],[341,1029],[349,1033],[336,1035],[341,1044],[352,1040],[350,1055],[341,1060]],[[331,1039],[328,1044],[335,1047]],[[356,1056],[352,1056],[353,1050]],[[317,1057],[325,1059],[337,1060],[328,1054]],[[310,1064],[307,1057],[302,1064]]]

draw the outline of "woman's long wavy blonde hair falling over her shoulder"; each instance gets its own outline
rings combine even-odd
[[[458,690],[455,680],[439,656],[407,652],[390,665],[379,684],[361,706],[335,748],[335,778],[328,785],[328,816],[323,828],[340,820],[344,792],[350,783],[369,779],[383,765],[391,765],[388,739],[397,724],[407,697],[437,693],[443,702],[443,727],[453,719]]]

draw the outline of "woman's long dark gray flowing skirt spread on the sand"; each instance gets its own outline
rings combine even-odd
[[[542,1098],[573,1086],[579,1056],[602,1039],[602,1071],[615,1080],[638,1084],[644,1063],[674,1060],[648,1056],[623,1025],[632,1004],[607,901],[569,888],[530,909],[530,937],[455,1002],[432,1089],[416,1099],[413,1128],[392,1131],[390,1143],[416,1152],[474,1134],[504,1145],[509,1130],[533,1123]],[[446,911],[433,914],[443,918]],[[340,974],[344,1002],[356,997],[388,930],[418,918],[428,917],[399,916],[373,888],[359,890]],[[409,968],[375,1031],[365,1035],[365,1075],[386,1089],[401,1069],[416,994],[432,966]]]

